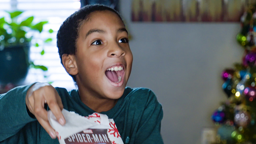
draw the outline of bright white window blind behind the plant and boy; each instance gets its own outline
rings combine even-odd
[[[56,35],[60,25],[68,16],[80,8],[79,0],[1,0],[0,17],[7,15],[4,11],[15,9],[24,11],[17,21],[34,16],[34,23],[48,21],[44,25],[41,34],[33,33],[32,45],[30,48],[30,59],[36,65],[44,65],[48,71],[41,69],[29,69],[25,83],[35,81],[51,82],[54,87],[64,87],[68,90],[76,88],[73,79],[65,71],[60,63],[58,48],[56,46]],[[48,30],[53,29],[53,33]],[[52,38],[51,43],[44,44],[43,41]],[[34,44],[39,43],[39,47]],[[44,49],[44,55],[40,52]]]

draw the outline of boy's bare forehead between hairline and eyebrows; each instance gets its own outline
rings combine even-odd
[[[89,14],[88,19],[81,23],[80,30],[89,31],[93,28],[125,27],[120,17],[111,11],[96,11]]]

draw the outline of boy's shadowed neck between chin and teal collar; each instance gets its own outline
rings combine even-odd
[[[90,93],[89,91],[83,90],[80,91],[80,89],[79,95],[81,101],[97,113],[109,111],[117,103],[117,99],[104,99],[97,96],[96,93]]]

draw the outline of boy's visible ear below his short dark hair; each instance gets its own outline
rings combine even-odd
[[[77,71],[75,56],[63,54],[61,57],[62,57],[63,66],[66,69],[66,71],[69,73],[69,75],[76,75],[78,71]]]

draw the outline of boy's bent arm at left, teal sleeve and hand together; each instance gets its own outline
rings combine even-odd
[[[20,140],[20,137],[31,138],[29,132],[37,129],[39,125],[30,123],[35,120],[49,133],[52,139],[55,139],[55,130],[49,124],[47,111],[44,109],[45,103],[48,104],[59,121],[62,119],[60,123],[65,124],[64,116],[61,113],[63,105],[60,96],[56,89],[48,83],[17,87],[1,95],[0,112],[3,114],[0,118],[0,142],[17,141]]]

